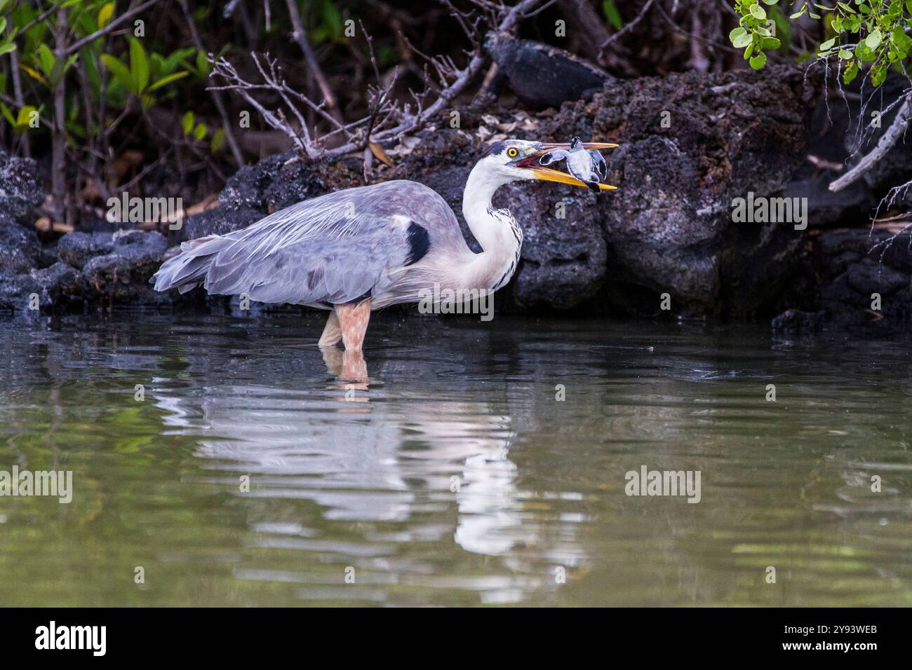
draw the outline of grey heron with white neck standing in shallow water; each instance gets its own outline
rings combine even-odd
[[[617,144],[586,143],[586,149]],[[583,181],[540,164],[568,144],[494,142],[462,194],[462,215],[482,246],[474,253],[438,193],[396,180],[327,193],[276,211],[240,231],[181,244],[181,253],[150,280],[181,294],[202,284],[210,294],[246,294],[263,303],[331,310],[319,339],[360,351],[371,310],[417,303],[422,295],[496,291],[519,262],[523,229],[510,211],[494,209],[494,191],[511,181]],[[614,186],[599,184],[612,190]]]

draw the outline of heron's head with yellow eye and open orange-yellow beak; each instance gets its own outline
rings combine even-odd
[[[613,149],[617,144],[607,142],[581,142],[585,149]],[[494,142],[488,153],[479,165],[483,166],[486,171],[496,175],[502,183],[519,180],[544,180],[557,181],[562,184],[572,184],[573,186],[586,187],[586,182],[580,181],[575,177],[546,168],[539,163],[542,157],[550,153],[563,149],[565,151],[571,148],[567,143],[552,142],[530,142],[525,139],[504,139],[503,141]],[[617,186],[608,184],[599,184],[598,187],[603,191],[614,191]]]

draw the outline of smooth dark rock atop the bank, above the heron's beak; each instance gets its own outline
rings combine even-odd
[[[600,90],[611,78],[564,49],[509,33],[489,33],[484,48],[516,97],[536,108],[559,107],[587,91]]]

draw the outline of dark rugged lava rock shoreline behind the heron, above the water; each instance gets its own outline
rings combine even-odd
[[[610,195],[534,183],[498,192],[495,201],[525,232],[522,262],[498,294],[498,309],[727,319],[784,313],[773,325],[787,331],[827,321],[903,324],[912,314],[908,234],[882,254],[886,244],[876,245],[895,231],[872,230],[867,217],[890,185],[908,179],[909,151],[895,147],[867,183],[830,193],[826,184],[838,173],[829,166],[845,160],[846,129],[834,109],[817,104],[821,95],[803,67],[612,79],[556,109],[461,108],[461,128],[441,119],[439,128],[386,147],[394,167],[376,162],[367,177],[421,181],[461,218],[466,176],[499,135],[616,141],[606,159],[608,182],[620,190]],[[842,110],[846,125],[850,114]],[[814,167],[809,155],[827,167]],[[36,162],[0,154],[0,308],[24,312],[34,294],[42,313],[224,302],[202,291],[158,294],[149,277],[180,242],[364,183],[363,160],[308,165],[289,152],[239,170],[218,201],[180,230],[98,222],[60,236],[36,231],[35,210],[45,200]],[[806,227],[736,222],[732,202],[748,194],[807,198]],[[872,309],[873,294],[880,309]]]

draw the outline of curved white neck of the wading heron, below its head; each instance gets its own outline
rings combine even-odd
[[[469,174],[462,194],[462,216],[472,235],[482,245],[463,270],[466,285],[478,288],[500,288],[510,280],[519,261],[523,231],[513,216],[504,210],[495,211],[494,191],[503,185],[490,170],[478,163]]]

